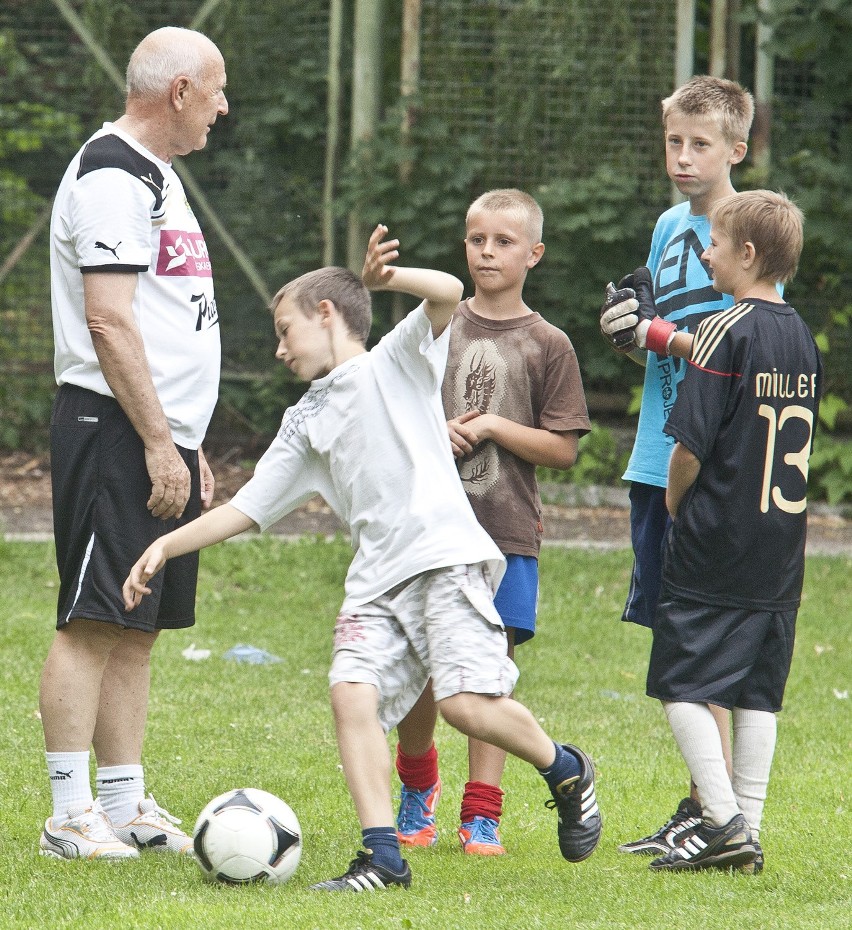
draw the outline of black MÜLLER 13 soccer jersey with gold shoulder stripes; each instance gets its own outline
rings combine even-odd
[[[672,527],[664,588],[704,603],[798,607],[819,351],[787,304],[744,300],[698,327],[665,431],[701,462]]]

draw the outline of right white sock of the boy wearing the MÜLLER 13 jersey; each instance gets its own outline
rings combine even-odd
[[[763,805],[769,787],[769,770],[775,754],[777,721],[775,714],[764,710],[735,707],[734,718],[734,794],[743,817],[757,839],[763,817]]]

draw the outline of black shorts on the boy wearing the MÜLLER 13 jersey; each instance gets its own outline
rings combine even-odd
[[[657,606],[647,694],[729,710],[781,710],[797,610],[699,604],[666,593]]]

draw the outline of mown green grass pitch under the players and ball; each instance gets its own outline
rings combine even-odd
[[[644,696],[647,631],[618,620],[627,552],[547,549],[539,634],[519,650],[517,696],[554,737],[590,751],[604,812],[600,849],[569,865],[556,847],[544,785],[510,760],[503,840],[510,855],[461,854],[454,829],[466,779],[463,739],[438,733],[445,794],[442,834],[409,855],[408,892],[324,896],[313,881],[340,874],[359,830],[339,770],[326,671],[350,552],[342,541],[260,539],[202,556],[199,622],[155,650],[145,750],[148,787],[191,829],[232,787],[282,796],[298,814],[304,854],[280,888],[205,884],[195,864],[143,856],[123,864],[36,855],[49,813],[38,678],[56,596],[49,544],[0,543],[0,927],[841,928],[852,907],[849,827],[850,559],[813,558],[761,836],[759,878],[713,872],[656,875],[619,854],[655,829],[686,793],[687,774],[659,705]],[[209,648],[202,662],[181,650]],[[275,665],[223,661],[236,643],[280,656]],[[836,693],[835,693],[836,692]],[[837,695],[841,695],[838,697]]]

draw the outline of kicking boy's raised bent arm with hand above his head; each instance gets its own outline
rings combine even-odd
[[[361,280],[371,291],[400,291],[426,302],[426,316],[437,338],[447,328],[461,300],[464,285],[458,278],[430,268],[399,268],[389,264],[399,258],[399,240],[384,241],[388,228],[381,223],[367,244]]]

